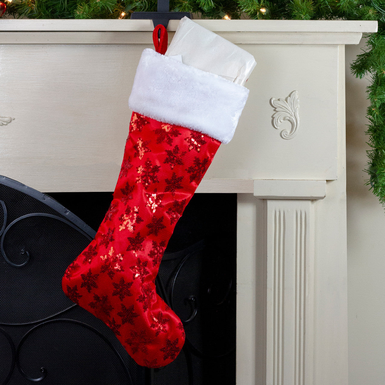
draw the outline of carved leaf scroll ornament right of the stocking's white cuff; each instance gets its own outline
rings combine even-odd
[[[291,92],[286,99],[276,99],[275,97],[272,97],[270,99],[270,104],[275,110],[271,124],[278,130],[283,121],[289,121],[291,129],[283,129],[281,131],[281,137],[283,139],[293,139],[300,127],[300,101],[298,99],[298,91]]]

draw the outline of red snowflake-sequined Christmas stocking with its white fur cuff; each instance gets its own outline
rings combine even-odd
[[[221,142],[234,134],[248,90],[145,49],[114,199],[95,239],[70,264],[65,294],[109,326],[139,364],[172,362],[183,325],[157,296],[167,242]]]

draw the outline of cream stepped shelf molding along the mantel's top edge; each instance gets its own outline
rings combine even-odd
[[[377,22],[338,20],[194,20],[235,44],[358,44]],[[169,39],[178,20],[170,20]],[[146,44],[151,20],[14,20],[0,24],[1,44]],[[128,33],[127,33],[128,32]],[[240,33],[241,32],[241,33]]]

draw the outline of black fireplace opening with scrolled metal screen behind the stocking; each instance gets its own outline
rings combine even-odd
[[[0,177],[0,384],[235,384],[236,194],[196,194],[177,223],[156,284],[183,321],[186,343],[155,370],[139,367],[62,292],[66,267],[111,199],[49,196]]]

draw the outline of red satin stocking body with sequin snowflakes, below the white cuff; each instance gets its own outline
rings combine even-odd
[[[184,344],[182,323],[154,281],[219,145],[134,112],[114,199],[95,239],[63,277],[64,293],[104,321],[139,365],[167,365]]]

